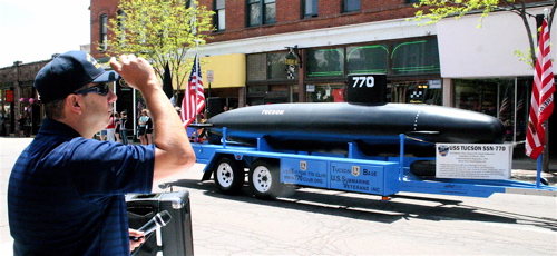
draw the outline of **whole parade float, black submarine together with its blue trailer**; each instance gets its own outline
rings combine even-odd
[[[208,141],[193,145],[197,161],[206,164],[202,180],[213,177],[221,191],[235,194],[247,175],[251,191],[263,199],[296,186],[383,198],[403,191],[472,197],[494,193],[557,195],[556,187],[540,184],[539,174],[536,184],[511,180],[510,165],[504,167],[507,178],[437,176],[437,171],[444,171],[437,168],[437,144],[504,148],[505,126],[475,111],[390,104],[385,91],[385,75],[351,75],[346,102],[258,105],[190,126],[208,130]],[[469,155],[469,160],[481,159]],[[465,163],[460,167],[494,170],[478,166]],[[458,166],[453,169],[461,171]]]

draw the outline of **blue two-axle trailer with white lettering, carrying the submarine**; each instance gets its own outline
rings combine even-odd
[[[313,187],[382,196],[399,193],[423,193],[453,196],[489,197],[495,193],[557,196],[557,187],[511,179],[455,179],[416,175],[413,163],[434,161],[434,157],[404,154],[411,138],[400,135],[398,156],[368,156],[358,144],[348,142],[346,154],[310,152],[275,149],[264,137],[256,146],[226,140],[221,144],[195,142],[197,163],[205,164],[202,180],[212,177],[224,194],[236,194],[247,175],[250,189],[256,198],[281,196],[285,187]],[[510,171],[510,170],[509,170]],[[294,186],[290,186],[294,185]]]

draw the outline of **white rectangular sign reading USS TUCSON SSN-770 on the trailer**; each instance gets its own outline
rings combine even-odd
[[[510,178],[512,145],[438,144],[436,154],[437,178]]]

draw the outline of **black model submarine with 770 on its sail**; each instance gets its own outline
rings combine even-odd
[[[399,152],[400,134],[411,138],[405,152],[432,156],[436,142],[500,144],[497,118],[451,107],[387,104],[384,75],[349,76],[349,102],[273,104],[244,107],[211,117],[203,127],[209,144],[226,138],[254,146],[264,138],[275,149],[345,154],[355,142],[365,155]]]

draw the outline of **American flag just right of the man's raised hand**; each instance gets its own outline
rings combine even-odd
[[[205,93],[203,90],[202,69],[199,67],[199,59],[195,55],[192,73],[187,81],[187,88],[182,100],[182,120],[184,127],[189,126],[195,120],[197,114],[205,108]]]

